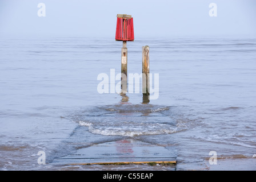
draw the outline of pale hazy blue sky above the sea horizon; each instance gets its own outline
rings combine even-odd
[[[45,3],[45,17],[38,3]],[[209,16],[210,3],[217,17]],[[117,14],[133,16],[135,38],[256,36],[255,0],[0,0],[0,36],[114,37]]]

